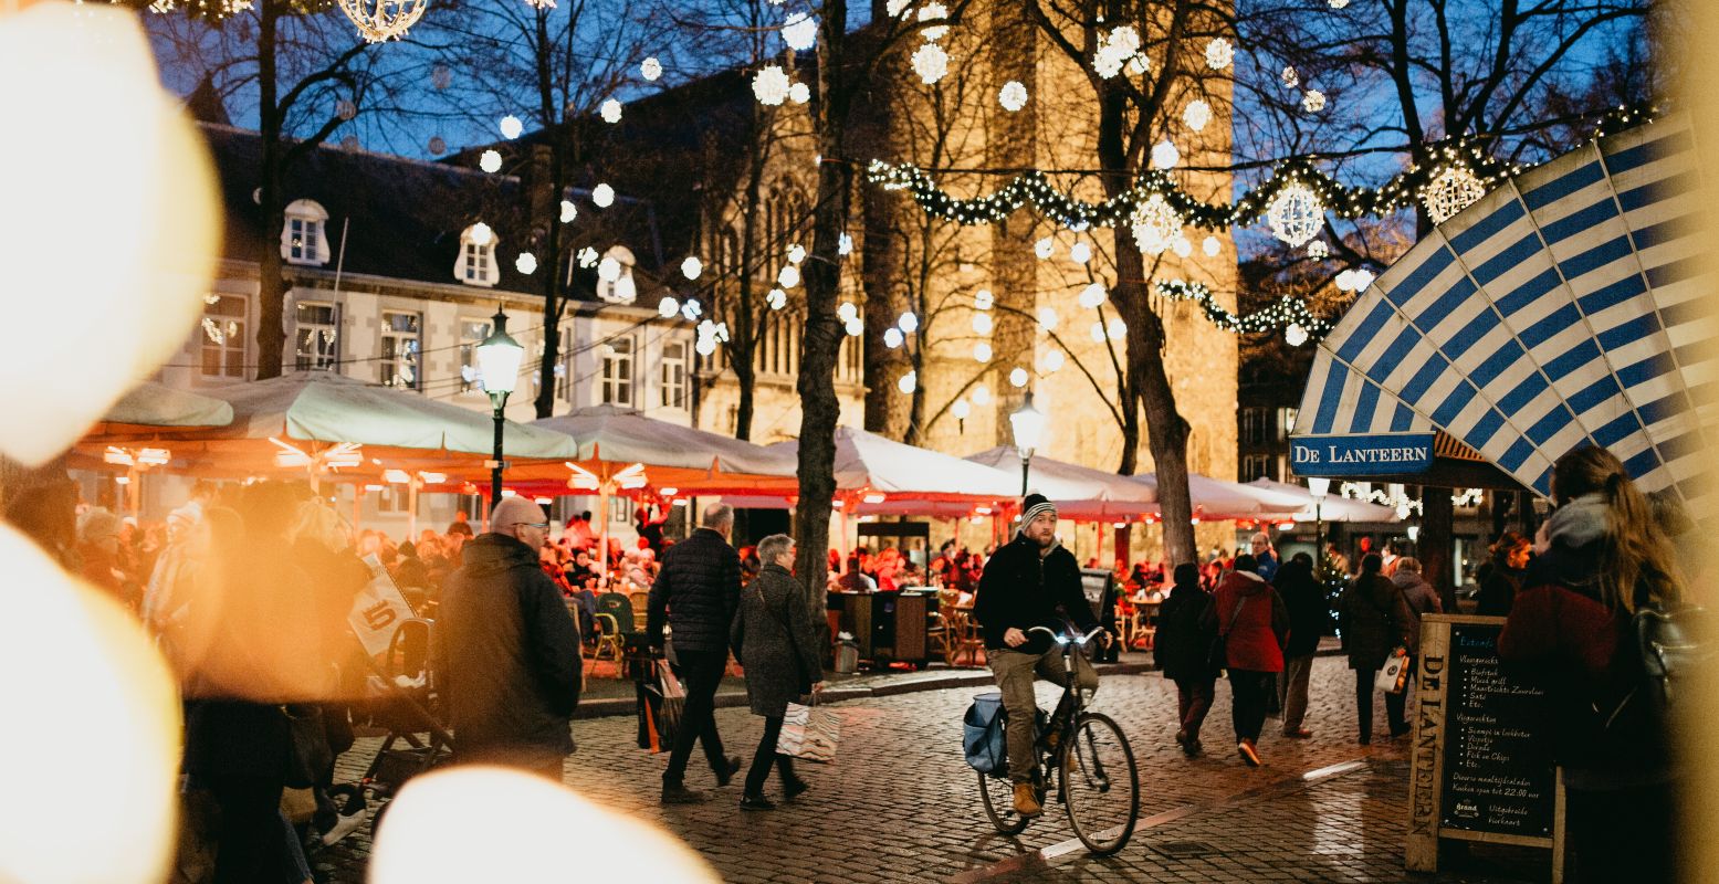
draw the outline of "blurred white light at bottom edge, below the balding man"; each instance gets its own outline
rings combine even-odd
[[[545,881],[566,869],[569,846],[583,848],[593,870],[638,881],[720,881],[669,832],[502,767],[413,777],[382,820],[368,881]]]

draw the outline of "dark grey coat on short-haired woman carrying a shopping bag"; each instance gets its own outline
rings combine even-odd
[[[763,566],[741,590],[729,640],[746,667],[746,700],[753,715],[782,715],[787,703],[823,681],[806,590],[779,564]]]

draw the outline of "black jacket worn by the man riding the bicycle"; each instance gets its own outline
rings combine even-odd
[[[1002,635],[1011,628],[1026,631],[1033,626],[1061,629],[1062,621],[1073,619],[1081,633],[1098,626],[1092,616],[1092,605],[1081,593],[1080,564],[1074,554],[1061,545],[1050,554],[1040,556],[1038,543],[1025,535],[997,550],[985,562],[985,574],[978,581],[978,597],[973,600],[973,616],[985,629],[985,648],[1007,648]],[[1023,654],[1043,654],[1050,650],[1050,638],[1045,633],[1031,633],[1026,643],[1012,648]]]

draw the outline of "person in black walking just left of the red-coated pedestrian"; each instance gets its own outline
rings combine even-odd
[[[1152,636],[1152,655],[1164,678],[1176,683],[1176,745],[1193,758],[1200,745],[1200,726],[1212,710],[1217,667],[1212,666],[1212,638],[1215,624],[1208,624],[1207,611],[1212,597],[1200,588],[1200,566],[1176,566],[1171,597],[1159,607],[1159,631]]]

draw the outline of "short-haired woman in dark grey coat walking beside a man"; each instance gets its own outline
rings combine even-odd
[[[806,588],[794,580],[794,538],[770,535],[758,542],[763,566],[741,592],[739,614],[729,640],[746,667],[746,702],[753,715],[763,715],[763,738],[746,770],[741,810],[775,810],[763,795],[775,764],[782,777],[782,798],[806,791],[806,781],[794,776],[794,760],[775,752],[782,736],[787,703],[823,688],[818,662],[818,636],[811,629]]]

